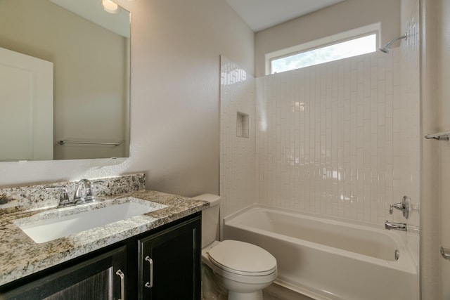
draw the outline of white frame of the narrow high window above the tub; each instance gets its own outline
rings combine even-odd
[[[306,43],[291,46],[288,48],[283,48],[271,53],[266,53],[265,55],[265,74],[272,74],[272,61],[279,58],[286,58],[289,56],[295,56],[300,53],[307,51],[312,51],[314,49],[323,48],[333,44],[339,44],[344,41],[351,41],[352,39],[358,39],[359,37],[366,37],[368,35],[375,34],[375,51],[380,44],[380,34],[381,34],[381,23],[373,23],[371,25],[366,25],[363,27],[358,27],[353,30],[347,30],[345,32],[340,32],[338,34],[333,34],[328,37],[323,37],[321,39],[316,39],[314,41],[307,41]],[[297,69],[293,69],[297,70]]]

